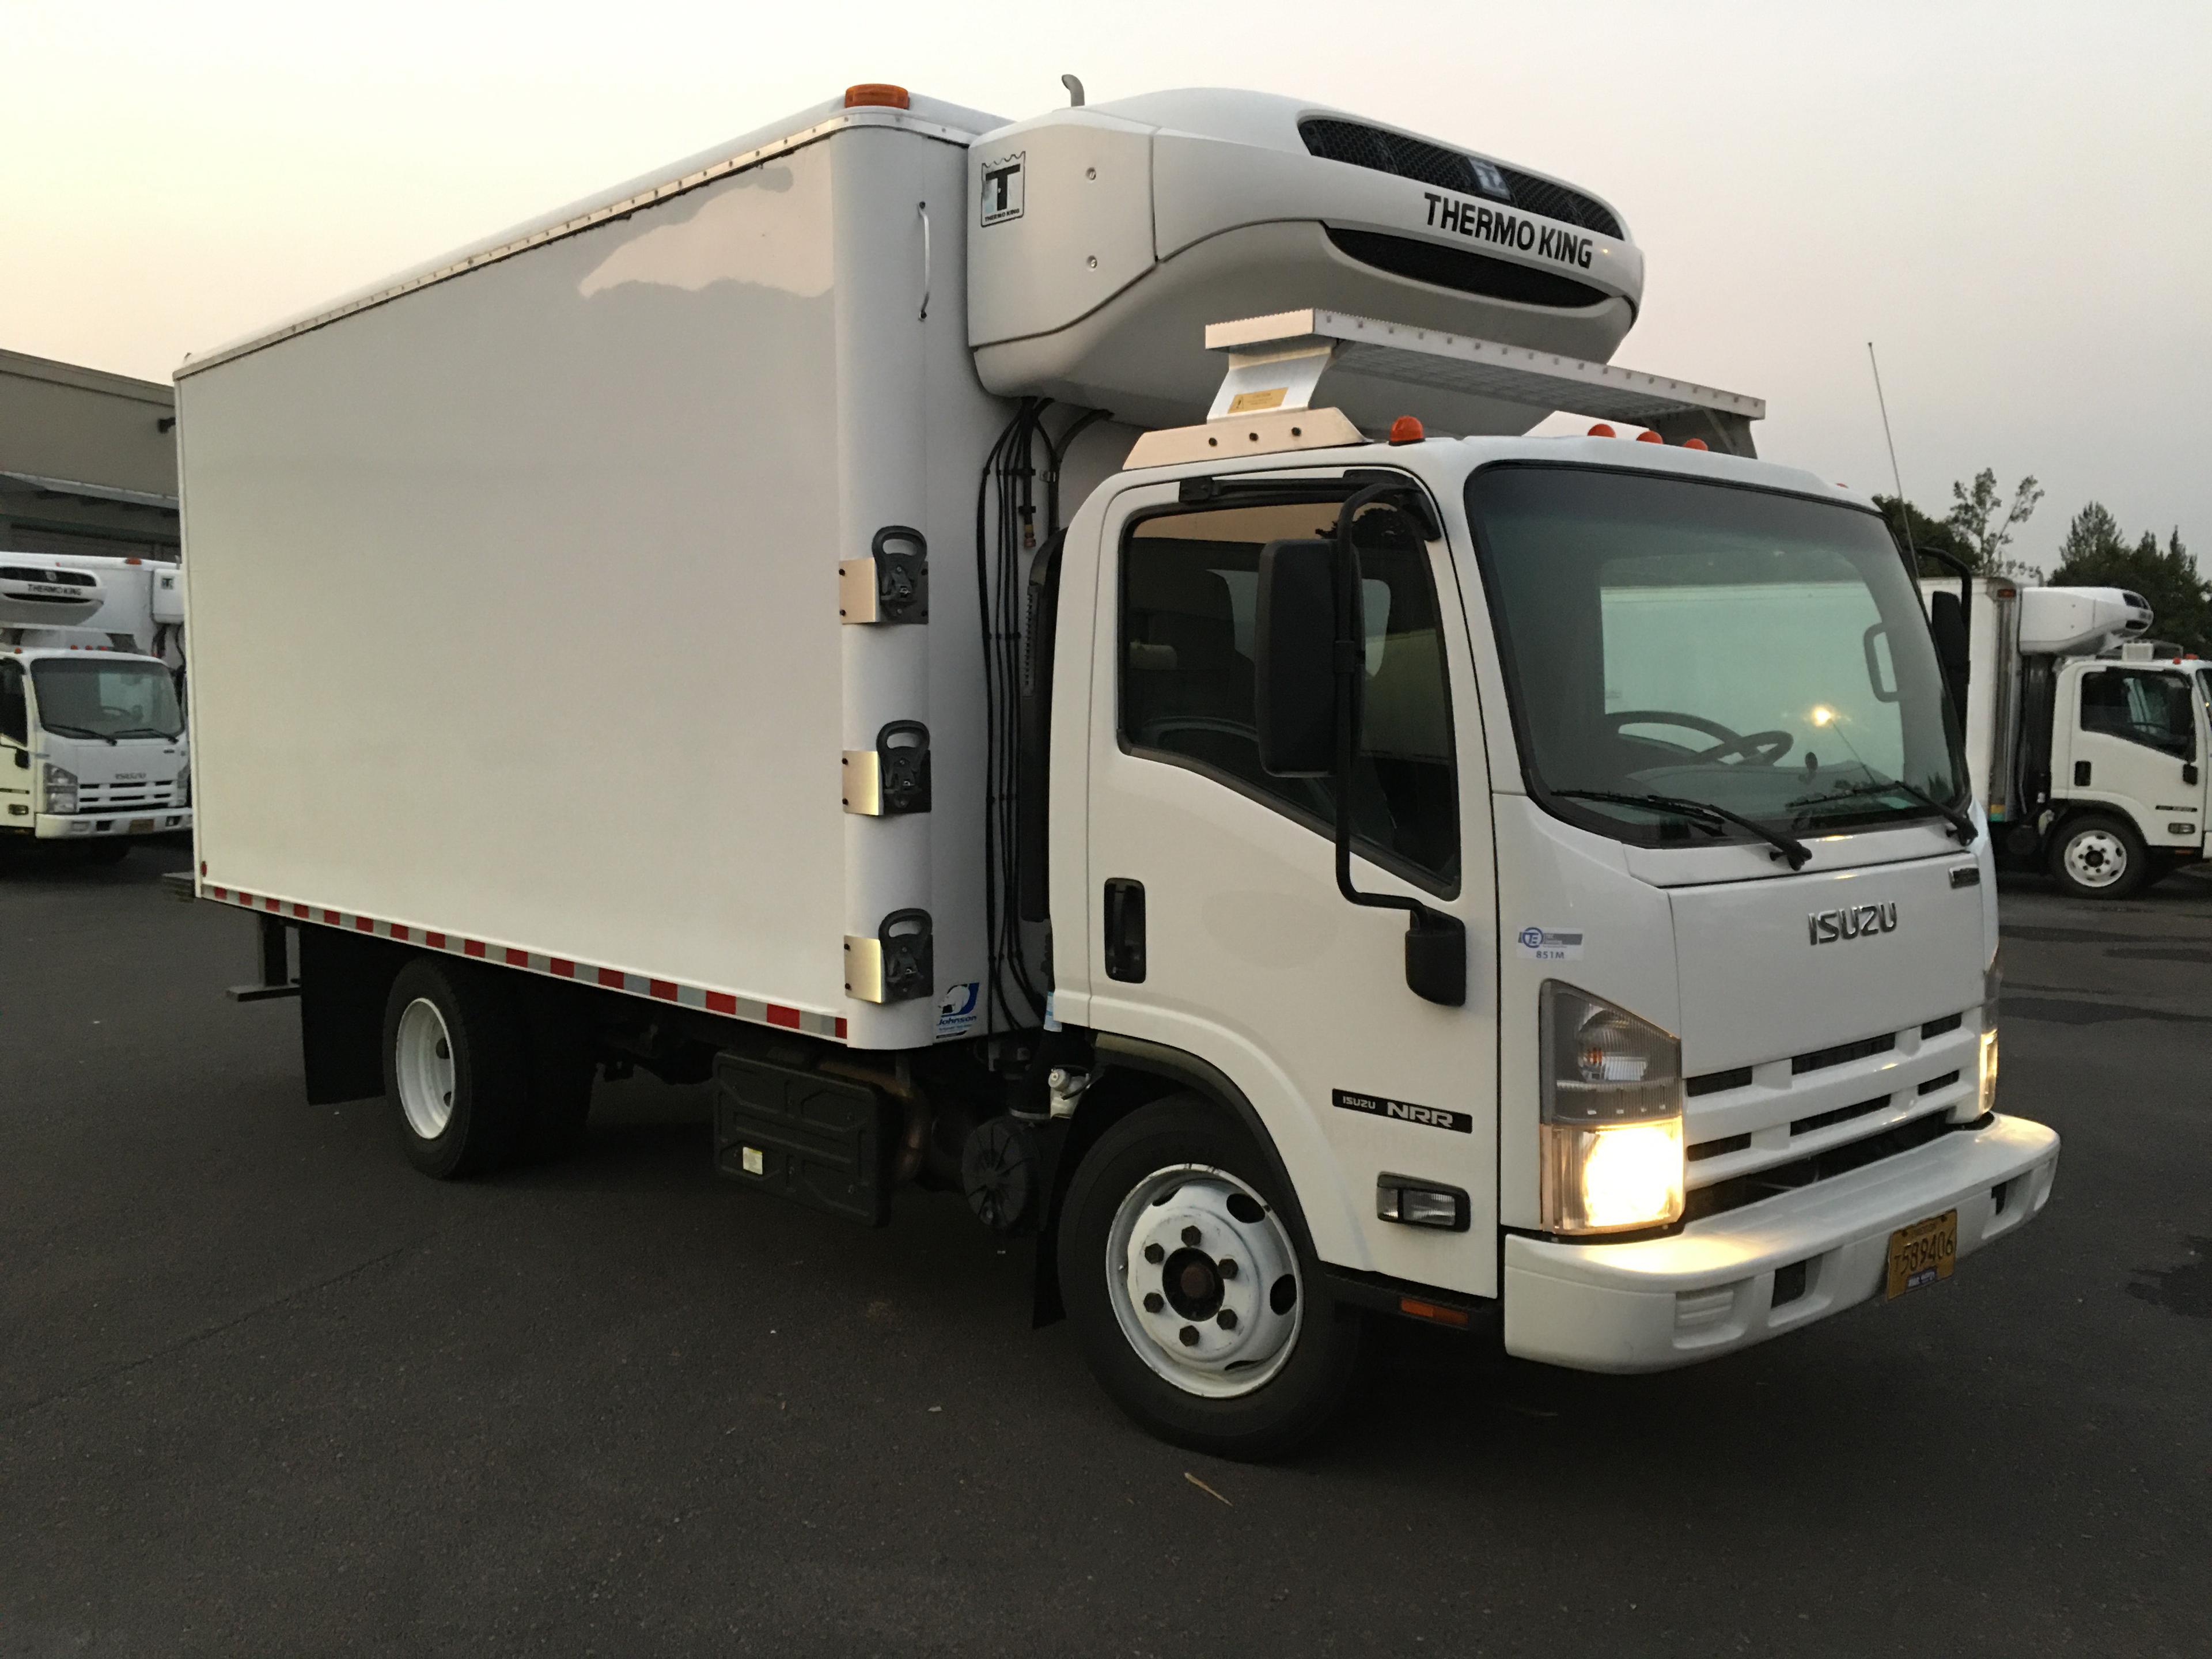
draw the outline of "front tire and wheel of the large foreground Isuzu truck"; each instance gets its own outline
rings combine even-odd
[[[1075,1170],[1060,1294],[1093,1376],[1148,1433],[1279,1458],[1343,1402],[1360,1316],[1281,1199],[1252,1137],[1197,1095],[1130,1113]]]

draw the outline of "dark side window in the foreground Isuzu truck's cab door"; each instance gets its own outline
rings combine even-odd
[[[1334,783],[1261,770],[1252,626],[1261,549],[1334,529],[1336,502],[1212,507],[1144,518],[1121,544],[1121,745],[1203,772],[1323,836],[1334,834]],[[1458,779],[1429,549],[1387,507],[1360,513],[1356,535],[1367,686],[1354,834],[1365,856],[1451,896]]]

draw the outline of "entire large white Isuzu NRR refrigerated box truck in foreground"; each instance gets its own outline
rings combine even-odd
[[[195,891],[425,1172],[712,1079],[1228,1455],[1367,1314],[1639,1371],[1947,1279],[2057,1137],[1944,670],[1867,498],[1606,363],[1641,285],[1296,100],[856,86],[192,358]]]

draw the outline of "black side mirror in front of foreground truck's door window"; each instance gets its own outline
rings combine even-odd
[[[1279,779],[1336,772],[1336,544],[1267,542],[1252,619],[1259,763]]]

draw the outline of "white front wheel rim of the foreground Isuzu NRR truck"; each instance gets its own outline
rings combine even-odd
[[[1137,1181],[1115,1210],[1104,1265],[1121,1336],[1183,1394],[1252,1394],[1298,1345],[1298,1252],[1228,1170],[1175,1164]]]

